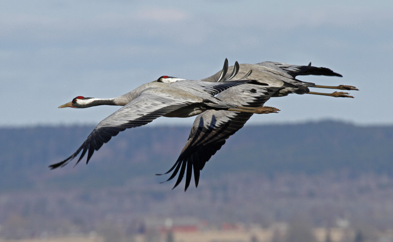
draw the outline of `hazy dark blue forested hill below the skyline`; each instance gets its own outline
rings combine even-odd
[[[176,161],[189,127],[140,127],[121,132],[84,161],[49,170],[71,155],[92,126],[0,128],[0,189],[37,186],[103,187],[130,177],[151,177]],[[324,121],[291,125],[246,126],[206,164],[204,178],[258,171],[319,174],[346,169],[350,174],[393,173],[393,126],[360,127]]]

